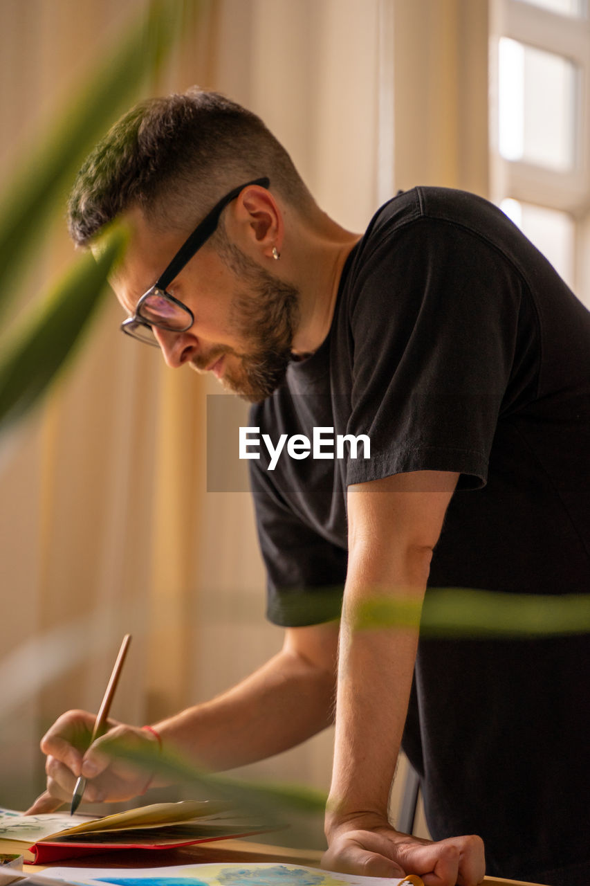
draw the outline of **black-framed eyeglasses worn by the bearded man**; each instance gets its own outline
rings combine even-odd
[[[270,180],[268,178],[257,178],[253,182],[241,184],[239,188],[230,190],[219,203],[213,206],[210,213],[206,214],[203,221],[193,230],[181,248],[175,254],[174,259],[170,262],[164,273],[159,276],[151,289],[144,292],[136,305],[136,313],[132,317],[128,317],[120,324],[121,330],[131,338],[137,338],[138,341],[144,341],[147,345],[159,347],[155,338],[152,327],[157,326],[160,330],[168,332],[186,332],[195,322],[195,317],[190,307],[182,304],[182,301],[175,299],[166,291],[169,286],[182,271],[182,268],[190,261],[195,253],[213,234],[219,223],[221,212],[235,200],[238,194],[251,184],[259,184],[261,188],[268,188]]]

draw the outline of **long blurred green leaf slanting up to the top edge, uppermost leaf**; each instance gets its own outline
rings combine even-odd
[[[76,96],[54,127],[37,138],[21,161],[0,205],[0,309],[18,290],[23,270],[43,225],[61,208],[82,159],[148,77],[159,71],[190,15],[206,0],[152,0]]]

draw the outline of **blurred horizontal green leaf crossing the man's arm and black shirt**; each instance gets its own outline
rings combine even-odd
[[[506,594],[430,588],[419,602],[375,597],[361,604],[354,627],[417,627],[423,637],[523,638],[590,632],[590,595]]]

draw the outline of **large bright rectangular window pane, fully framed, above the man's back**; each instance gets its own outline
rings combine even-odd
[[[564,172],[575,162],[576,66],[563,56],[501,37],[500,152]]]

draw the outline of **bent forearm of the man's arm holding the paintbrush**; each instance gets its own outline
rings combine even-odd
[[[155,728],[164,747],[180,750],[197,765],[217,770],[243,766],[329,726],[334,689],[329,665],[317,666],[287,643],[237,686]]]

